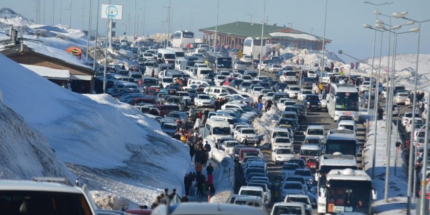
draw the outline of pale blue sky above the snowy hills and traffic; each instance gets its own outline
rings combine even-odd
[[[60,23],[60,11],[62,14],[63,24],[69,22],[69,0],[40,0],[41,2],[41,22],[51,23],[51,7],[55,1],[55,24]],[[63,1],[63,2],[62,2]],[[388,2],[388,0],[369,0],[375,4]],[[139,19],[136,23],[139,34],[142,33],[143,14],[145,0],[136,0],[137,13]],[[379,7],[379,11],[386,15],[393,12],[408,11],[408,18],[424,21],[430,19],[429,0],[392,0],[392,4],[386,4]],[[62,3],[62,10],[60,5]],[[108,3],[108,0],[100,0],[100,4]],[[0,7],[9,7],[17,13],[22,14],[28,19],[36,18],[35,0],[2,0]],[[93,0],[97,4],[97,0]],[[134,0],[112,0],[112,4],[122,4],[124,7],[124,17],[118,21],[118,32],[124,32],[127,27],[133,25],[134,18]],[[164,33],[167,31],[167,8],[169,0],[150,0],[146,2],[146,20],[145,34]],[[27,5],[23,7],[23,5]],[[43,5],[45,5],[43,13]],[[84,9],[82,9],[84,8]],[[139,9],[141,8],[141,9]],[[219,0],[219,18],[218,23],[229,23],[233,21],[250,21],[251,16],[254,22],[262,20],[263,0]],[[363,3],[361,0],[328,0],[326,38],[332,40],[326,49],[335,51],[343,50],[345,53],[364,59],[372,56],[374,31],[363,28],[363,24],[375,24],[376,16],[373,11],[376,6]],[[84,18],[83,18],[83,12]],[[193,11],[193,23],[191,23]],[[93,18],[96,17],[96,8],[93,8]],[[313,34],[323,36],[324,29],[324,12],[325,0],[266,0],[266,18],[269,24],[278,23],[279,25],[292,23],[293,28]],[[84,29],[87,29],[89,14],[89,0],[72,0],[72,21],[71,26],[82,28],[83,19]],[[129,15],[130,14],[130,15]],[[130,24],[129,24],[130,16]],[[137,18],[137,17],[136,17]],[[389,23],[389,18],[379,17],[385,23]],[[172,31],[192,30],[197,32],[199,28],[215,26],[216,20],[216,0],[172,0]],[[92,28],[95,28],[95,19],[93,19]],[[406,20],[392,18],[392,24],[404,24]],[[191,24],[193,25],[190,29]],[[418,24],[404,26],[398,32],[408,31],[412,27],[418,27]],[[421,44],[420,53],[430,53],[430,21],[421,25]],[[99,20],[99,32],[105,32],[106,20]],[[129,29],[132,34],[133,27]],[[387,55],[388,34],[384,34],[383,54]],[[197,36],[202,37],[202,34]],[[391,37],[393,38],[393,37]],[[417,33],[408,33],[399,35],[397,53],[416,53],[417,51]],[[377,36],[377,51],[379,55],[380,35]],[[392,49],[391,49],[392,50]],[[345,62],[354,60],[342,57]]]

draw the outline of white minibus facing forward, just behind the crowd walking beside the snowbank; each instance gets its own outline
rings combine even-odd
[[[203,136],[206,139],[212,139],[214,142],[217,142],[221,137],[233,137],[230,124],[227,121],[212,118],[206,120]]]

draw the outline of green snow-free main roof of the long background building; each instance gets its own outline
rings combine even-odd
[[[237,37],[261,37],[261,25],[254,23],[251,25],[250,22],[244,22],[244,21],[235,21],[232,23],[227,24],[221,24],[218,25],[218,28],[216,29],[218,33],[220,34],[230,34],[232,36]],[[272,38],[268,33],[283,29],[285,27],[280,26],[274,26],[274,25],[264,25],[264,32],[263,37],[264,38]],[[199,31],[213,31],[215,32],[215,26],[209,27],[209,28],[203,28],[199,29]]]

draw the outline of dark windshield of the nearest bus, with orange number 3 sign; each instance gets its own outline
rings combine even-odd
[[[334,207],[344,208],[344,212],[368,213],[371,207],[371,181],[346,181],[332,179],[327,190],[328,202]],[[330,211],[329,211],[330,212]]]

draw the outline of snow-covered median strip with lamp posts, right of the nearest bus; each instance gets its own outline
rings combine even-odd
[[[378,198],[374,201],[374,213],[378,215],[393,215],[401,214],[406,211],[406,191],[408,187],[407,174],[403,169],[402,151],[398,152],[397,158],[397,175],[394,175],[394,162],[396,157],[395,140],[397,126],[392,125],[393,134],[391,135],[390,148],[390,175],[389,175],[389,191],[388,203],[384,202],[385,181],[386,181],[386,165],[387,165],[387,133],[385,132],[385,122],[378,121],[377,137],[376,137],[376,162],[375,162],[375,178],[373,179],[373,187],[376,189]],[[371,176],[372,160],[373,160],[373,141],[375,138],[375,125],[370,125],[368,140],[364,149],[365,170]],[[400,137],[398,138],[400,140]],[[413,208],[415,204],[412,205]]]

